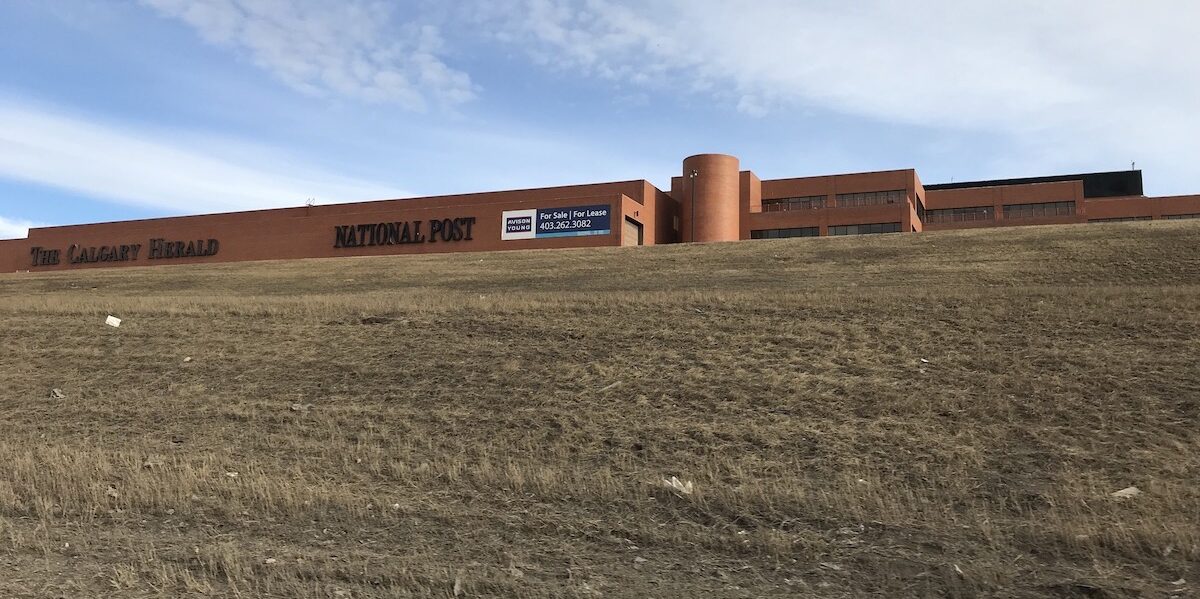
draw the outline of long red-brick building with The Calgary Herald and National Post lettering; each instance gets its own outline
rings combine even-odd
[[[0,240],[0,272],[103,266],[658,245],[1200,217],[1151,198],[1140,170],[922,184],[888,170],[760,180],[733,156],[644,180],[44,227]]]

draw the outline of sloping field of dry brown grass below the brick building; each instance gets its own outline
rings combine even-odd
[[[2,275],[0,341],[4,598],[1200,593],[1200,222]]]

